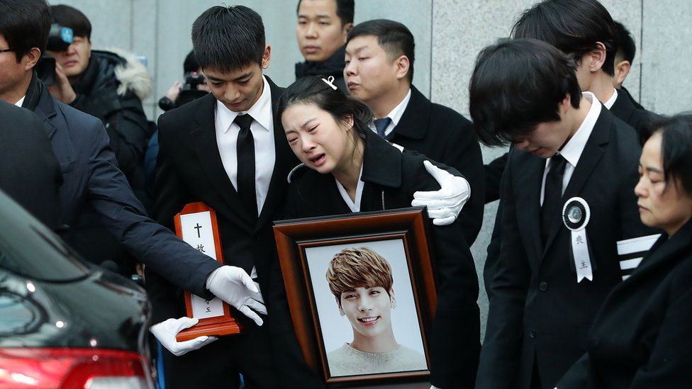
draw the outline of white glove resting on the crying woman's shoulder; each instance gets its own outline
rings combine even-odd
[[[428,173],[440,184],[440,190],[434,192],[415,192],[411,205],[428,206],[428,216],[435,225],[448,225],[457,220],[459,212],[471,197],[471,186],[464,177],[457,177],[449,171],[442,170],[430,161],[423,162]]]

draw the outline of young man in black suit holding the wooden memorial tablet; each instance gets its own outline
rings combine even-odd
[[[225,263],[255,278],[262,301],[274,286],[272,222],[281,219],[286,177],[298,164],[274,115],[283,89],[262,74],[271,48],[252,9],[211,7],[194,22],[192,44],[211,94],[159,119],[155,218],[172,228],[187,203],[202,201],[216,210]],[[238,373],[246,385],[259,388],[323,385],[302,359],[290,358],[300,354],[290,318],[277,322],[272,308],[254,322],[235,315],[245,320],[243,334],[181,344],[175,335],[189,326],[189,320],[175,319],[185,315],[182,291],[153,273],[147,284],[157,323],[152,332],[168,350],[163,356],[169,387],[235,386]]]

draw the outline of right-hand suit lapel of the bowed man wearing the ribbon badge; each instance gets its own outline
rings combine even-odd
[[[576,168],[569,179],[567,188],[565,188],[564,194],[562,195],[561,203],[581,194],[581,189],[584,188],[584,184],[586,184],[586,181],[591,176],[593,169],[596,168],[598,161],[603,157],[603,153],[605,152],[603,147],[607,145],[608,140],[610,140],[612,124],[613,114],[608,112],[608,110],[601,109],[601,114],[598,115],[596,125],[593,126],[591,136],[589,136],[586,141],[584,150],[581,152],[581,157],[579,157],[579,162],[576,164]],[[562,208],[560,208],[560,212],[562,212]],[[561,219],[562,218],[553,218],[548,240],[545,244],[544,254],[555,237],[557,237],[557,232],[562,230]]]

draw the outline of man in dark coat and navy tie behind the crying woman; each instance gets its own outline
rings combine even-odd
[[[413,34],[401,23],[377,19],[348,33],[344,77],[351,96],[372,109],[376,131],[396,145],[459,170],[471,186],[460,215],[464,238],[474,243],[483,222],[481,148],[471,122],[430,102],[413,81]]]

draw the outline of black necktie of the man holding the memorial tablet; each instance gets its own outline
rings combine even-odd
[[[233,120],[240,131],[238,132],[238,196],[247,213],[257,218],[257,196],[255,195],[255,138],[252,137],[250,124],[252,116],[238,115]]]

